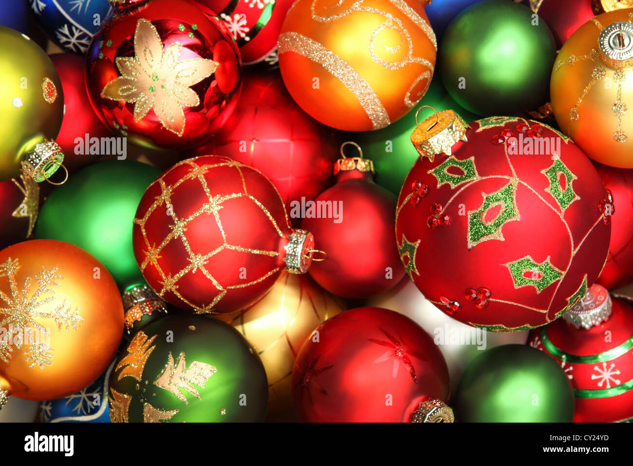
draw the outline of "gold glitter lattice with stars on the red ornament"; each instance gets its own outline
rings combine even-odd
[[[196,161],[200,159],[213,159],[215,160],[215,162],[210,163],[210,164],[198,165]],[[198,163],[201,163],[201,162],[198,162]],[[181,179],[173,182],[172,184],[168,186],[165,183],[163,178],[165,178],[165,176],[168,176],[168,174],[170,174],[170,172],[172,172],[173,170],[178,169],[178,167],[180,167],[181,165],[189,165],[191,169]],[[235,170],[237,170],[239,177],[241,178],[242,190],[238,192],[234,192],[234,193],[225,193],[223,195],[214,195],[213,185],[210,183],[210,181],[208,180],[208,176],[206,175],[208,175],[208,172],[215,167],[234,167]],[[172,169],[170,169],[170,171],[166,172],[163,176],[161,176],[161,178],[154,181],[154,183],[148,188],[148,191],[149,191],[149,189],[151,189],[155,184],[158,183],[158,185],[160,186],[160,193],[158,193],[154,197],[153,204],[151,204],[147,208],[146,212],[144,213],[144,216],[142,218],[134,219],[134,224],[140,227],[140,231],[143,236],[143,240],[145,244],[145,247],[142,250],[142,256],[144,257],[142,259],[142,262],[140,262],[141,271],[145,271],[145,269],[148,266],[153,266],[153,268],[155,268],[156,271],[158,271],[158,275],[160,275],[160,280],[158,280],[158,283],[149,283],[149,284],[160,297],[164,298],[165,294],[172,293],[177,298],[179,298],[180,301],[187,304],[187,306],[192,307],[192,309],[194,309],[196,313],[199,313],[199,314],[213,313],[215,312],[213,310],[214,306],[216,306],[218,302],[222,300],[222,298],[227,294],[227,292],[229,292],[229,290],[251,287],[253,285],[256,285],[256,283],[263,282],[263,280],[266,280],[279,272],[280,268],[274,267],[274,268],[271,268],[264,275],[261,275],[258,278],[255,278],[254,280],[250,280],[249,282],[232,283],[231,285],[222,285],[220,282],[218,282],[218,280],[216,280],[216,278],[206,268],[206,264],[210,262],[211,257],[215,256],[216,254],[219,254],[223,250],[239,251],[239,252],[244,252],[246,254],[254,254],[255,256],[260,256],[260,257],[261,256],[268,256],[268,257],[279,256],[279,252],[277,250],[251,249],[248,247],[242,247],[241,245],[235,245],[235,244],[230,243],[229,238],[227,237],[227,233],[225,232],[224,226],[222,224],[221,214],[222,214],[222,209],[224,208],[223,204],[227,201],[234,200],[237,198],[246,198],[250,200],[251,202],[253,202],[258,207],[258,209],[261,209],[263,214],[266,217],[268,217],[268,221],[270,221],[270,224],[272,225],[272,228],[277,233],[277,235],[280,238],[285,237],[284,233],[280,229],[280,224],[277,222],[277,220],[273,218],[272,214],[268,211],[268,209],[266,209],[266,207],[263,204],[261,204],[261,202],[257,200],[257,198],[253,196],[253,194],[249,193],[246,186],[247,184],[246,178],[244,176],[244,171],[248,171],[248,170],[257,172],[255,169],[252,169],[251,167],[247,167],[246,165],[242,165],[241,163],[233,159],[229,159],[229,157],[220,157],[220,156],[198,157],[197,159],[184,160],[183,162],[180,162],[179,164],[174,165]],[[201,205],[199,209],[196,210],[196,212],[187,214],[187,216],[184,216],[184,217],[180,217],[179,212],[177,212],[176,209],[173,209],[173,213],[170,213],[170,217],[171,217],[170,225],[169,225],[169,228],[171,230],[170,233],[168,233],[165,236],[165,238],[161,241],[160,244],[150,242],[149,238],[147,237],[147,231],[145,227],[147,220],[153,214],[153,212],[156,211],[157,209],[166,209],[167,205],[171,205],[173,207],[172,195],[175,193],[176,188],[180,186],[180,184],[186,183],[189,180],[197,180],[199,182],[202,190],[206,194],[207,202]],[[210,215],[214,217],[218,231],[220,232],[220,235],[222,237],[222,243],[218,243],[218,247],[215,247],[215,249],[213,250],[210,250],[208,252],[204,251],[204,254],[202,252],[199,252],[196,254],[196,252],[194,252],[194,249],[191,246],[189,238],[187,238],[187,229],[190,228],[191,226],[190,224],[194,222],[198,217],[204,216],[204,215]],[[287,219],[287,213],[285,212],[285,209],[284,209],[284,216],[285,216],[284,223],[281,224],[281,228],[286,229],[286,228],[289,228],[288,226],[289,222]],[[184,248],[184,250],[187,253],[187,262],[189,262],[189,264],[187,264],[186,267],[180,269],[180,271],[178,271],[174,275],[172,275],[171,273],[165,273],[160,263],[160,259],[162,257],[161,252],[163,252],[163,249],[172,242],[179,242],[180,244],[182,244],[182,248]],[[208,280],[208,287],[210,288],[212,287],[212,288],[215,288],[215,290],[217,290],[217,294],[215,294],[213,301],[211,301],[208,304],[198,305],[194,302],[191,302],[189,301],[189,299],[187,299],[187,297],[182,295],[179,291],[179,285],[178,285],[179,280],[183,278],[184,276],[189,275],[190,273],[194,274],[196,272],[202,273],[204,277],[206,277],[206,279]]]

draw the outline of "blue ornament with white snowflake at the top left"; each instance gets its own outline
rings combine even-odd
[[[28,0],[49,38],[65,51],[85,55],[92,36],[112,13],[108,0]]]

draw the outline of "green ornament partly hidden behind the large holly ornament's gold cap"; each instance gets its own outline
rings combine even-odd
[[[404,117],[384,129],[354,133],[349,136],[351,141],[356,141],[361,146],[363,157],[373,161],[376,183],[387,188],[396,196],[399,195],[404,178],[419,156],[411,144],[411,133],[415,129],[415,112],[423,105],[430,105],[438,112],[454,110],[467,122],[478,118],[461,108],[449,96],[436,74],[422,100]],[[434,113],[430,108],[423,108],[418,114],[418,122],[422,122]]]

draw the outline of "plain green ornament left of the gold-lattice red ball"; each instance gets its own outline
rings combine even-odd
[[[132,249],[132,221],[147,186],[160,173],[132,160],[85,167],[48,196],[34,237],[86,250],[106,266],[121,290],[144,282]]]

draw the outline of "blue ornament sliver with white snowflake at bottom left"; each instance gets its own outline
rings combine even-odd
[[[108,380],[115,365],[85,389],[60,399],[40,403],[41,422],[110,422],[108,410]]]

